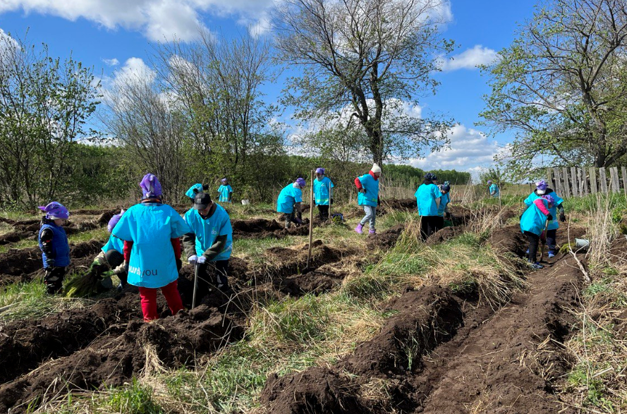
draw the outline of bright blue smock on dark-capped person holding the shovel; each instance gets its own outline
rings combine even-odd
[[[196,236],[196,255],[201,256],[210,248],[218,236],[226,235],[226,247],[222,252],[214,257],[212,262],[217,260],[228,260],[233,251],[233,228],[231,218],[224,207],[216,205],[216,211],[208,219],[203,219],[196,209],[189,209],[185,213],[185,223],[192,229],[191,233]]]

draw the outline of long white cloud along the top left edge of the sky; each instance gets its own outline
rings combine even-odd
[[[21,10],[67,20],[85,18],[111,30],[138,30],[150,40],[189,41],[206,30],[201,12],[245,18],[246,26],[261,33],[273,4],[274,0],[1,0],[0,14]]]

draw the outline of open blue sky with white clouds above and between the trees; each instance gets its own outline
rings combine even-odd
[[[116,71],[138,69],[148,61],[152,43],[176,35],[192,39],[202,25],[224,35],[252,27],[267,30],[267,12],[274,0],[2,0],[0,30],[45,42],[52,56],[68,56],[94,66],[104,78]],[[494,153],[511,141],[510,134],[486,137],[475,126],[489,93],[487,79],[475,68],[488,63],[496,51],[509,46],[517,23],[531,18],[535,1],[450,0],[449,22],[442,34],[458,48],[453,61],[435,77],[437,95],[422,99],[419,111],[435,111],[453,117],[451,147],[410,160],[423,169],[478,171],[492,163]],[[267,97],[276,99],[281,87],[268,86]],[[287,111],[289,113],[289,111]]]

